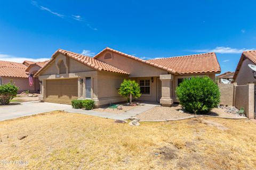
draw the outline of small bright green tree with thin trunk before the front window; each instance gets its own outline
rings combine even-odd
[[[130,104],[132,103],[132,97],[137,99],[140,97],[140,86],[134,80],[126,80],[121,84],[118,92],[121,96],[125,97],[127,100],[130,98]]]

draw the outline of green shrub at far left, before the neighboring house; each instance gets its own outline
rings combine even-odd
[[[7,83],[0,86],[0,103],[9,104],[10,101],[17,95],[19,87]]]

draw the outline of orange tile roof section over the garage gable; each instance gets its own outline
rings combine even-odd
[[[80,62],[82,64],[85,64],[85,66],[89,66],[89,67],[91,67],[91,68],[93,68],[95,70],[98,70],[98,71],[103,70],[103,71],[117,72],[117,73],[120,73],[120,74],[129,75],[129,73],[124,71],[124,70],[118,69],[118,68],[116,68],[114,66],[111,66],[111,65],[105,63],[105,62],[101,62],[99,60],[95,60],[95,59],[91,58],[90,56],[86,56],[86,55],[82,55],[82,54],[77,54],[77,53],[66,51],[66,50],[62,50],[62,49],[57,50],[52,55],[52,58],[51,58],[51,60],[48,63],[53,61],[55,56],[57,56],[59,53],[65,55],[65,56],[68,56],[71,59],[74,59],[74,60],[76,60],[76,61],[78,61],[78,62]],[[45,66],[43,66],[39,71],[37,71],[35,76],[38,76],[39,72],[41,72],[46,66],[47,66],[47,64],[45,64]]]

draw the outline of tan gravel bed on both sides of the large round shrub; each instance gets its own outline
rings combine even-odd
[[[229,107],[232,108],[232,107]],[[237,114],[233,112],[228,112],[228,107],[218,107],[212,109],[212,111],[207,114],[209,116],[216,116],[216,117],[227,117],[227,118],[236,118],[238,117]],[[185,118],[189,116],[194,116],[194,114],[190,114],[186,110],[182,109],[179,104],[173,104],[172,107],[162,107],[156,106],[150,110],[143,112],[142,114],[137,115],[136,117],[140,120],[164,120],[164,119],[179,119]]]

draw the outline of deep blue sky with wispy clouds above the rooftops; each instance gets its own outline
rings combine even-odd
[[[0,60],[105,47],[143,59],[216,52],[222,72],[256,49],[255,1],[0,1]]]

